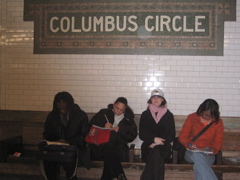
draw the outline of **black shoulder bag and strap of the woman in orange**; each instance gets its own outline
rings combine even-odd
[[[192,138],[192,142],[196,141],[215,121],[212,121],[206,127],[204,127],[196,136]],[[178,137],[173,141],[173,150],[178,151],[178,161],[184,160],[185,153],[187,151],[186,147],[179,142]]]

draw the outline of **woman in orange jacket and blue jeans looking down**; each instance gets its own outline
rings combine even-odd
[[[213,124],[196,141],[192,142],[192,138],[211,122]],[[213,99],[206,99],[197,112],[188,115],[178,139],[187,149],[208,150],[208,153],[186,151],[185,160],[194,163],[194,179],[217,180],[211,165],[215,161],[214,155],[221,150],[223,139],[223,122],[220,119],[218,103]]]

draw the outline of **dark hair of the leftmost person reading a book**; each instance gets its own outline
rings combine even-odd
[[[55,95],[54,101],[53,101],[53,110],[57,110],[57,104],[63,101],[67,104],[68,108],[71,108],[74,105],[74,99],[72,95],[69,92],[59,92]]]

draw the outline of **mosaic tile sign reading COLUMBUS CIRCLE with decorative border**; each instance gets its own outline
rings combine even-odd
[[[236,0],[24,0],[36,54],[223,55]]]

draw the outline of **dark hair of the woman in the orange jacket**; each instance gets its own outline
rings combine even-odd
[[[204,111],[210,111],[210,114],[218,123],[220,118],[219,105],[214,99],[206,99],[197,109],[197,115],[202,116]]]

